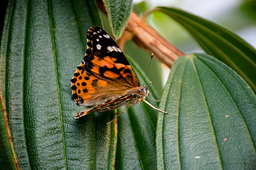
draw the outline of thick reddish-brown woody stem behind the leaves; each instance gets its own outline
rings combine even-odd
[[[106,13],[103,3],[99,0],[96,0],[96,3],[99,9]],[[185,55],[141,20],[135,12],[132,12],[125,30],[133,35],[132,39],[138,46],[144,48],[150,54],[153,53],[154,57],[168,68],[172,67],[175,60]],[[121,45],[123,43],[124,42],[122,42]]]

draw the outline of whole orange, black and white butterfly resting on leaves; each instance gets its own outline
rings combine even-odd
[[[75,103],[78,106],[93,106],[76,113],[74,118],[125,105],[126,109],[122,112],[124,113],[131,105],[142,101],[164,112],[145,100],[149,95],[148,87],[144,84],[140,86],[121,49],[111,36],[98,26],[92,26],[87,31],[86,55],[70,82]]]

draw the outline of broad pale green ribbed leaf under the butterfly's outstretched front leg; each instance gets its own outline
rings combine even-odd
[[[166,83],[156,131],[158,169],[256,167],[256,96],[207,54],[179,58]]]

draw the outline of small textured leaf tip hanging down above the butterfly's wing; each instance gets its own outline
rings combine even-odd
[[[104,0],[110,27],[115,39],[119,39],[132,14],[132,0]]]

